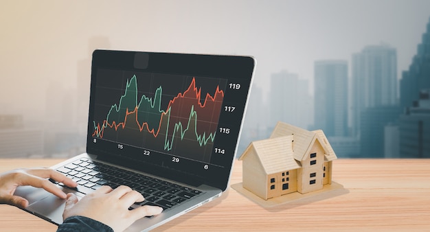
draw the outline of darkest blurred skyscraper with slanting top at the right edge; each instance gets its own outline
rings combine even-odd
[[[430,20],[408,71],[400,80],[400,156],[430,157]]]

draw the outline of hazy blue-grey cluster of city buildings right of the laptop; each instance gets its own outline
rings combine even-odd
[[[315,60],[313,100],[306,80],[273,73],[269,101],[260,90],[253,95],[242,140],[266,139],[276,121],[284,121],[324,130],[339,157],[430,158],[430,19],[400,81],[395,47],[367,45],[351,56],[350,65]]]

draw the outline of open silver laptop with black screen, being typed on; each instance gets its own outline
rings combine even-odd
[[[158,216],[127,231],[148,231],[219,197],[231,167],[251,87],[250,56],[95,50],[84,154],[52,166],[78,182],[82,198],[102,185],[128,185]],[[16,189],[25,209],[63,223],[65,200]]]

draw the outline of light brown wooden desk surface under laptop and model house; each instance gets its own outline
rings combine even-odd
[[[55,159],[0,159],[0,172],[47,167]],[[345,189],[264,209],[234,189],[155,231],[429,231],[430,159],[338,159],[333,181]],[[231,183],[242,182],[236,161]],[[56,226],[0,205],[0,231],[56,231]]]

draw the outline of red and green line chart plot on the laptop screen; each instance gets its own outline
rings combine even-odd
[[[98,75],[118,77],[98,83],[93,138],[210,160],[226,80],[154,73]]]

